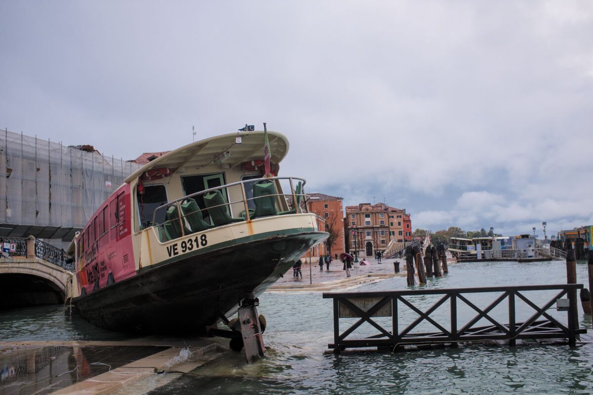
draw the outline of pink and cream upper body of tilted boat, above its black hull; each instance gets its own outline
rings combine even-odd
[[[71,245],[81,295],[198,248],[316,232],[305,180],[278,176],[288,140],[273,131],[267,139],[269,174],[264,133],[252,131],[188,144],[129,175]]]

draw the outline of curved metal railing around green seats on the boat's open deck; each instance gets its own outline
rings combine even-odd
[[[290,193],[278,193],[281,180],[288,181]],[[308,195],[303,190],[306,182],[298,177],[275,176],[246,179],[209,188],[160,205],[152,216],[152,226],[157,227],[160,241],[166,242],[229,223],[266,216],[308,213],[305,204]],[[240,188],[241,199],[227,202],[225,195],[230,196],[229,191],[233,187]],[[255,195],[256,188],[259,195]],[[247,192],[250,192],[251,197],[247,197]],[[250,202],[253,202],[253,207],[250,207]],[[231,216],[233,205],[243,208],[241,217]],[[282,210],[283,208],[286,210]]]

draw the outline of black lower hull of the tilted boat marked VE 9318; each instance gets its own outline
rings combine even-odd
[[[246,293],[272,285],[324,232],[274,236],[145,269],[74,300],[81,315],[104,329],[199,333],[232,314]]]

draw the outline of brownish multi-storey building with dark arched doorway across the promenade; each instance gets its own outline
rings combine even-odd
[[[404,240],[412,239],[410,214],[384,203],[346,206],[344,221],[347,249],[358,256],[383,252],[391,240],[403,246]]]

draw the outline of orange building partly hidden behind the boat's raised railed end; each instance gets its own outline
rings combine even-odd
[[[346,251],[346,245],[344,242],[344,208],[342,205],[343,198],[320,193],[312,193],[307,195],[309,196],[309,199],[307,200],[308,210],[311,213],[317,214],[317,216],[321,217],[324,221],[320,222],[319,230],[323,230],[325,227],[326,232],[329,232],[330,229],[333,229],[335,232],[337,232],[336,240],[331,246],[331,255],[332,259],[334,259],[336,253],[338,256],[340,256],[340,253]],[[321,242],[318,245],[313,246],[310,250],[311,255],[317,257],[330,252],[329,246],[327,246],[326,242]]]

